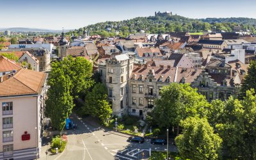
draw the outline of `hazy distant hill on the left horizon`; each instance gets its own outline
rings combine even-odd
[[[54,29],[38,29],[38,28],[0,28],[0,31],[15,31],[15,32],[49,32],[49,33],[60,33],[62,30]],[[70,31],[65,30],[65,31]]]

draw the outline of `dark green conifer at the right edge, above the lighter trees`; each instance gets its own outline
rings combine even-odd
[[[256,90],[256,61],[250,61],[250,65],[248,67],[248,73],[245,76],[245,79],[241,88],[241,98],[246,95],[246,91],[253,88]]]

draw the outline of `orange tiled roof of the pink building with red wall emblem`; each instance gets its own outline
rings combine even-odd
[[[0,83],[0,97],[38,94],[42,92],[46,77],[44,72],[21,69]]]

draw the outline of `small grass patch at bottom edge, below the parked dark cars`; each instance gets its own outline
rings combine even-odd
[[[177,152],[168,152],[168,157],[171,159],[175,159],[175,160],[180,160],[182,159],[179,155],[179,153]],[[149,158],[149,160],[163,160],[166,159],[166,152],[161,152],[161,151],[152,151],[151,153],[151,157]],[[182,159],[185,160],[185,159]],[[189,159],[186,159],[189,160]]]

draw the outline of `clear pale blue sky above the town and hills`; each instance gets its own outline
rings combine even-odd
[[[189,18],[256,19],[255,0],[8,0],[0,1],[0,28],[78,29],[170,11]]]

